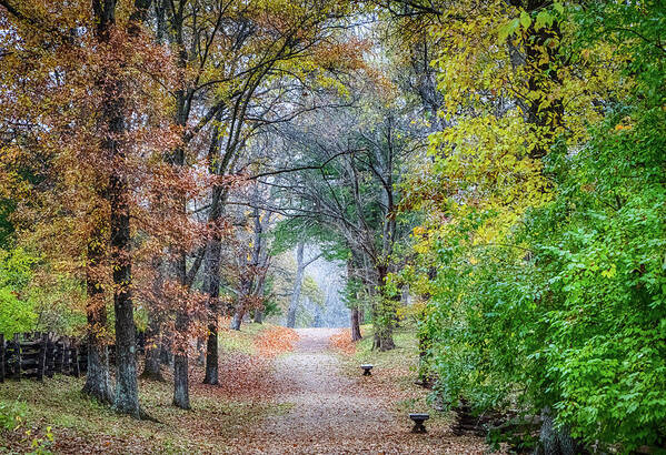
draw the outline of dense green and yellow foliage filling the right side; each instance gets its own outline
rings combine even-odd
[[[566,68],[564,59],[551,60],[548,71],[561,78],[550,93],[571,108],[548,144],[531,135],[519,108],[501,112],[488,99],[469,101],[475,92],[464,88],[479,79],[445,93],[450,107],[466,105],[470,114],[433,136],[434,164],[412,176],[419,185],[412,202],[431,211],[415,230],[416,260],[404,271],[414,289],[431,295],[421,367],[449,405],[466,398],[478,411],[546,410],[571,436],[623,452],[663,444],[665,11],[602,2],[516,14],[519,22],[487,39],[511,40],[510,30],[524,27],[513,42],[519,46],[533,18],[550,17],[565,30],[559,52],[568,60]],[[496,18],[488,12],[478,21]],[[466,27],[446,32],[471,40]],[[474,44],[466,52],[497,53]],[[585,74],[606,58],[613,63],[600,70],[608,71],[603,82],[568,92],[593,83]],[[476,71],[497,64],[475,61]],[[469,74],[450,73],[450,60],[439,64],[444,90],[447,78]],[[578,118],[567,122],[571,113]],[[534,141],[546,142],[546,156],[530,155]]]

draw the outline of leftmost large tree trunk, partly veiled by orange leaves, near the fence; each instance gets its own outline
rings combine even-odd
[[[86,271],[86,287],[88,291],[88,375],[83,393],[100,403],[111,403],[112,392],[109,380],[109,352],[102,336],[107,326],[107,306],[103,290],[96,279],[96,269],[103,257],[101,230],[97,230],[88,243],[88,265]]]

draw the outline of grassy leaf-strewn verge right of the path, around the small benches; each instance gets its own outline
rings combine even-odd
[[[448,426],[450,414],[437,412],[430,405],[430,391],[415,384],[418,368],[418,341],[416,328],[402,326],[394,333],[396,348],[387,352],[372,350],[372,327],[361,326],[364,338],[349,348],[340,350],[345,372],[370,393],[389,395],[394,411],[404,416],[407,413],[428,413],[428,425]],[[372,364],[372,376],[362,376],[360,365]]]

